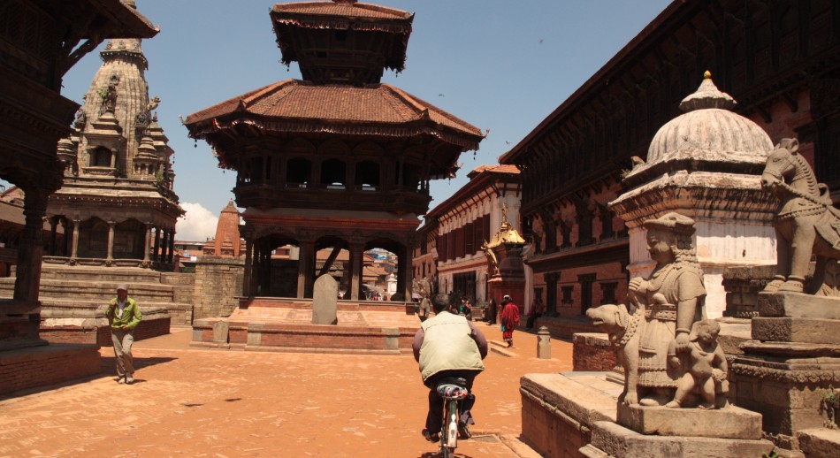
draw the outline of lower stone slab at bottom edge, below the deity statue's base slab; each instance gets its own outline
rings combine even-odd
[[[769,455],[774,445],[765,439],[719,439],[684,436],[651,436],[630,431],[620,424],[598,422],[592,429],[591,447],[607,456],[629,458],[639,456],[668,458],[731,458],[733,456]],[[582,454],[583,450],[580,451]],[[598,456],[586,454],[585,456]]]

